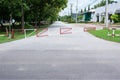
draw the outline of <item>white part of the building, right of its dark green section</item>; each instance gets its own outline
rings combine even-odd
[[[119,9],[120,9],[120,1],[118,1],[117,3],[108,5],[109,21],[111,21],[110,16],[114,14],[116,10],[119,10]],[[96,8],[95,12],[92,14],[91,21],[101,22],[103,17],[105,18],[105,10],[106,10],[106,6]]]

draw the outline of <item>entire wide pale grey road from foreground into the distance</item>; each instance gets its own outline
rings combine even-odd
[[[0,44],[0,80],[120,80],[119,43],[62,22],[44,34]]]

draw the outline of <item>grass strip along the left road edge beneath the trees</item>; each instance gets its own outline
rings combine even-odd
[[[44,28],[49,27],[49,25],[44,25],[44,26],[41,26],[41,27],[42,28],[40,28],[38,32],[42,31]],[[33,34],[28,36],[32,32],[33,31],[26,31],[27,37],[30,37],[30,36],[33,36],[33,35],[36,34],[36,32],[34,31]],[[10,42],[10,41],[15,41],[15,40],[19,40],[19,39],[25,38],[25,35],[22,32],[15,32],[14,33],[14,39],[10,39],[10,38],[6,37],[5,34],[6,34],[5,32],[0,32],[0,43],[5,43],[5,42]]]

